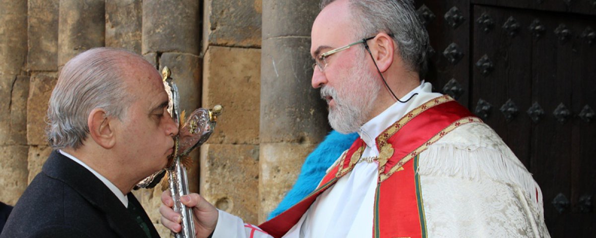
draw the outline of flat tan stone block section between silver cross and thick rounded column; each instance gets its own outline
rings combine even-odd
[[[201,195],[256,224],[259,211],[260,1],[204,1],[203,107],[224,107],[201,146]]]

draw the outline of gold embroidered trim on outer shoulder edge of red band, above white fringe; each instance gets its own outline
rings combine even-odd
[[[445,127],[445,129],[441,130],[439,133],[437,133],[436,135],[431,137],[426,143],[424,143],[423,145],[421,145],[414,151],[410,152],[410,154],[408,154],[405,157],[403,157],[402,159],[400,159],[399,162],[395,166],[393,166],[391,168],[391,170],[389,170],[389,172],[387,172],[386,174],[381,173],[379,175],[379,183],[381,183],[382,181],[384,181],[386,179],[389,179],[389,177],[396,171],[403,170],[402,166],[406,162],[410,161],[415,156],[420,155],[420,153],[425,151],[430,145],[432,145],[434,142],[437,142],[437,140],[441,139],[443,136],[445,136],[447,133],[451,132],[452,130],[456,129],[457,127],[459,127],[463,124],[481,123],[481,122],[482,122],[482,120],[480,120],[480,118],[477,118],[477,117],[464,117],[464,118],[461,118],[460,120],[455,121],[454,123],[451,123],[449,126]],[[379,170],[379,171],[383,171],[383,170]]]

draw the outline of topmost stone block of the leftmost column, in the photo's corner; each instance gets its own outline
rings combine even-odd
[[[0,75],[18,75],[27,57],[27,1],[0,0]]]

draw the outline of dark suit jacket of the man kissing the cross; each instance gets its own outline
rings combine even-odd
[[[132,193],[131,203],[142,208]],[[159,237],[141,212],[151,236]],[[131,212],[77,162],[53,151],[8,217],[0,238],[13,237],[147,237]]]

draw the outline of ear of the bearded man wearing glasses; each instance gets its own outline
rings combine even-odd
[[[378,70],[384,73],[393,64],[393,57],[395,56],[395,42],[393,38],[387,33],[378,33],[372,40],[370,40],[370,49],[373,53],[374,60],[377,61]]]

